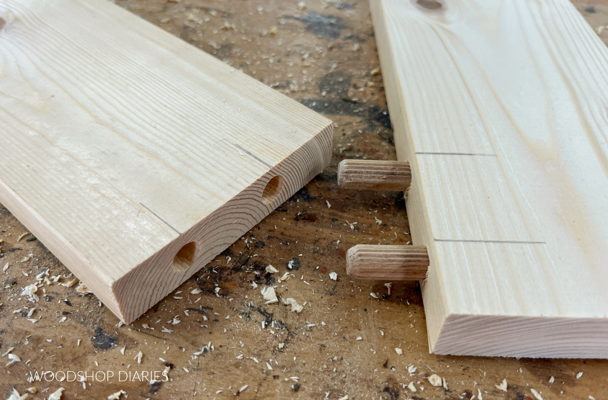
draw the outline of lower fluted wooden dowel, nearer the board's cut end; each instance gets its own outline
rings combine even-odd
[[[357,244],[346,253],[346,272],[356,279],[424,280],[428,267],[424,246]]]

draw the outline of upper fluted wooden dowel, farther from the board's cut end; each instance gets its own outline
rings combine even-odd
[[[411,181],[407,162],[342,160],[338,164],[338,185],[344,189],[406,190]]]

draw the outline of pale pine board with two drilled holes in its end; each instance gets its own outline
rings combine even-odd
[[[110,1],[0,18],[0,202],[126,323],[330,160],[329,120]]]

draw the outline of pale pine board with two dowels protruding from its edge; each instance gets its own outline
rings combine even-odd
[[[608,50],[565,0],[371,2],[430,350],[608,357]]]

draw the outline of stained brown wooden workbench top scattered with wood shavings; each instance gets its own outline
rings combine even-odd
[[[128,326],[119,326],[94,295],[80,294],[77,283],[64,286],[73,279],[70,272],[39,240],[22,236],[27,229],[0,206],[0,268],[9,265],[0,289],[0,354],[13,347],[21,358],[8,367],[9,359],[2,359],[1,399],[13,387],[21,394],[35,387],[30,399],[47,398],[58,387],[65,388],[63,399],[106,399],[120,390],[142,400],[233,398],[244,385],[243,399],[534,399],[534,391],[545,400],[606,398],[608,360],[429,354],[418,284],[393,283],[389,295],[384,282],[345,274],[348,247],[411,240],[401,193],[336,187],[344,158],[395,159],[366,1],[117,4],[330,117],[336,123],[333,159]],[[608,24],[608,1],[575,5],[594,29]],[[608,43],[608,29],[602,30]],[[268,264],[279,272],[267,274]],[[27,302],[22,288],[47,269],[46,293],[39,289],[40,302]],[[285,272],[289,279],[279,283]],[[264,305],[260,290],[269,284],[277,285],[280,298],[306,302],[303,311],[291,312],[282,301]],[[31,316],[29,308],[35,308]],[[209,342],[212,348],[195,356]],[[167,382],[118,379],[119,371],[139,376],[167,365]],[[27,381],[30,371],[66,370],[113,371],[114,377],[86,389],[81,382]],[[444,378],[447,388],[432,386],[431,374]]]

